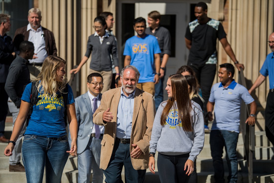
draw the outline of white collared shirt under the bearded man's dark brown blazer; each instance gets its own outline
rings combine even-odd
[[[45,42],[45,35],[42,31],[42,26],[40,26],[37,30],[34,30],[30,24],[27,26],[27,31],[30,31],[28,36],[28,41],[32,42],[34,45],[34,53],[36,53],[38,58],[30,59],[30,63],[43,63],[45,58],[48,56],[46,50],[46,42]]]

